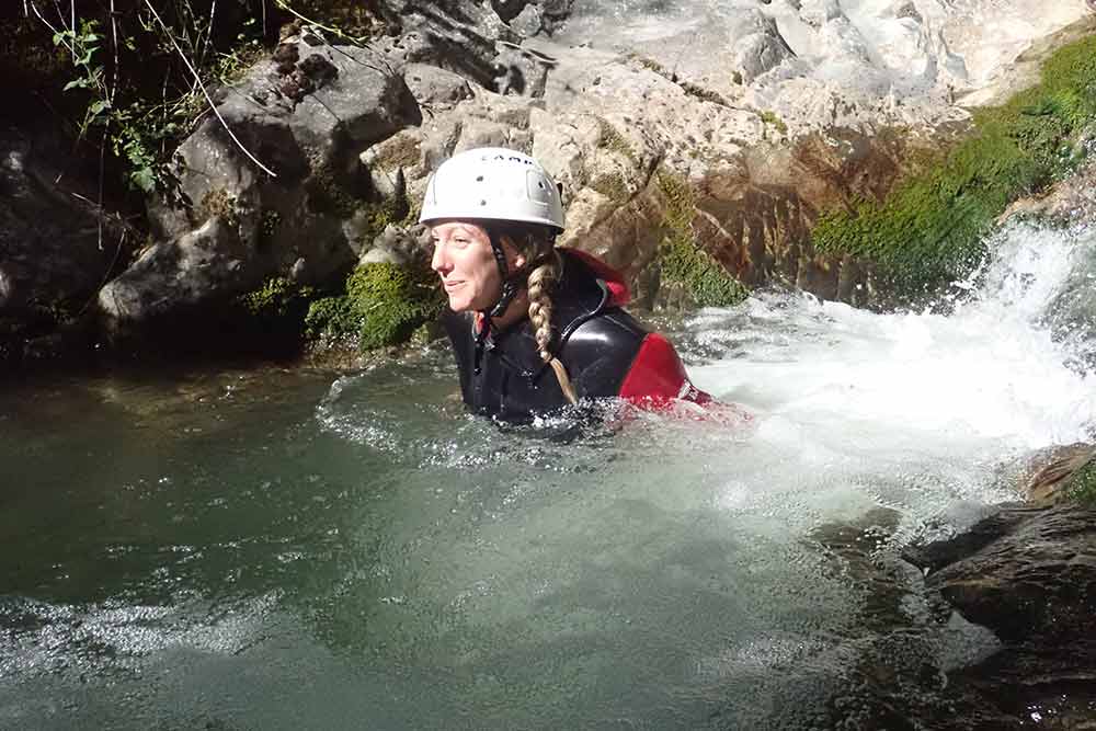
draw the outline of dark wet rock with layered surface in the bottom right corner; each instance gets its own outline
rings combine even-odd
[[[1002,506],[957,538],[906,552],[1003,647],[948,674],[947,729],[1096,728],[1096,510]]]

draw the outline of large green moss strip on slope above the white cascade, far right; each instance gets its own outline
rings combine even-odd
[[[1096,36],[1057,52],[1041,82],[974,114],[970,136],[884,201],[823,212],[812,232],[824,253],[880,265],[906,292],[945,284],[983,253],[983,237],[1009,202],[1061,178],[1082,158],[1072,141],[1096,117]]]

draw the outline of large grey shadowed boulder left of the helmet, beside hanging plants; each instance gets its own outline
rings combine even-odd
[[[323,283],[403,205],[357,159],[421,121],[403,77],[376,53],[287,39],[219,100],[220,119],[209,115],[175,157],[181,203],[150,205],[159,242],[100,294],[113,328],[271,277]]]

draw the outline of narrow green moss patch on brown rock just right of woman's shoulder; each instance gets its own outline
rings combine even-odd
[[[659,249],[663,282],[684,288],[700,307],[728,307],[745,299],[746,288],[696,245],[693,236],[696,198],[692,189],[666,170],[657,174],[666,198],[663,219],[666,235]]]

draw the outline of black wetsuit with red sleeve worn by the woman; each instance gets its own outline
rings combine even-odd
[[[705,402],[707,395],[688,382],[673,346],[623,310],[608,283],[584,258],[560,252],[563,270],[551,295],[557,335],[551,347],[576,396]],[[568,404],[556,374],[537,352],[528,318],[489,332],[481,342],[473,313],[449,311],[444,321],[471,411],[523,423]]]

